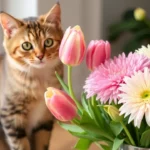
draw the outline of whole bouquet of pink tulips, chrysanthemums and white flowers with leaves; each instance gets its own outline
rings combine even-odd
[[[87,150],[93,142],[103,150],[117,150],[122,144],[148,148],[150,45],[113,59],[110,54],[111,46],[103,40],[92,40],[86,51],[81,28],[69,27],[59,50],[68,67],[68,83],[56,72],[64,91],[48,87],[46,105],[61,127],[79,138],[78,150]],[[91,73],[77,100],[71,73],[85,55]]]

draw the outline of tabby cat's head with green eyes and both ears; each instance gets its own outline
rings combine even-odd
[[[42,68],[50,65],[58,58],[63,36],[60,21],[59,4],[36,21],[21,21],[1,13],[3,44],[9,60],[20,67]]]

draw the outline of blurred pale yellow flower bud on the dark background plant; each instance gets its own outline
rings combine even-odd
[[[136,8],[134,10],[134,17],[138,21],[144,20],[146,18],[146,12],[145,12],[145,10],[142,9],[142,8]]]

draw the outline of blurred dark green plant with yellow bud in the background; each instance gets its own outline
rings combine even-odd
[[[124,12],[119,22],[110,25],[108,40],[111,43],[115,42],[124,33],[131,34],[131,38],[126,40],[123,45],[125,53],[150,43],[150,19],[146,16],[144,9],[136,8]]]

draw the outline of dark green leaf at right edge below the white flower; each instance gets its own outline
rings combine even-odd
[[[140,139],[140,144],[141,146],[143,147],[149,147],[150,146],[150,138],[149,138],[149,135],[150,135],[150,129],[146,130],[142,136],[141,136],[141,139]]]

